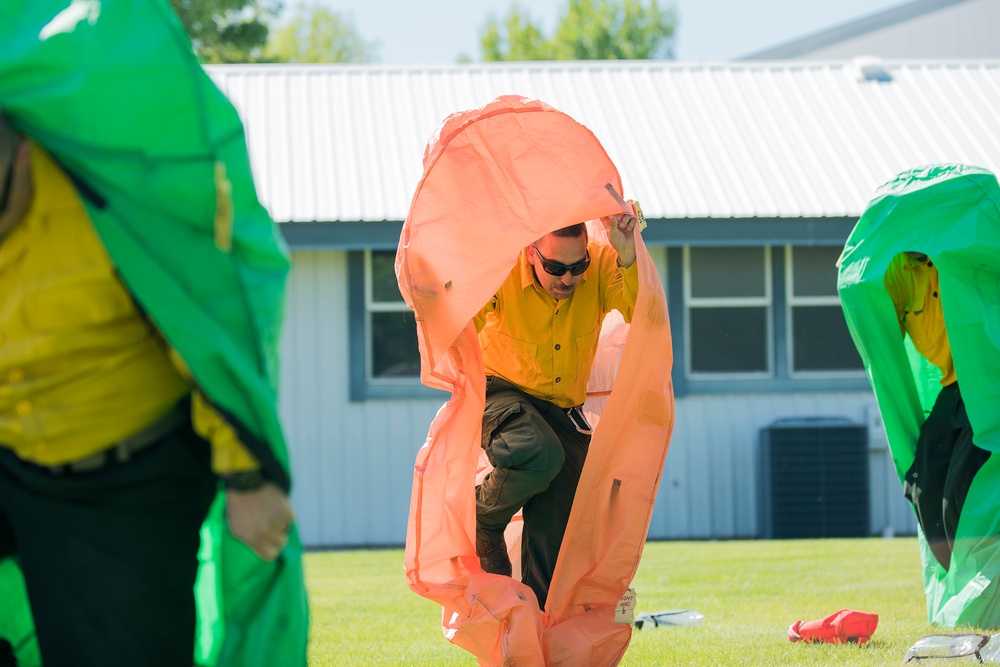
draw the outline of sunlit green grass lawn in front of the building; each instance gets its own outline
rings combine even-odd
[[[441,633],[441,608],[411,592],[402,550],[306,555],[309,665],[475,667]],[[915,538],[650,542],[636,613],[694,609],[697,627],[633,630],[623,667],[898,665],[927,623]],[[788,626],[840,609],[879,615],[867,644],[793,644]]]

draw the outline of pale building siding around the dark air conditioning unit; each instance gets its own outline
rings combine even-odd
[[[868,426],[869,532],[915,534],[871,392],[688,396],[676,422],[651,539],[759,535],[760,431],[779,419],[843,417]]]

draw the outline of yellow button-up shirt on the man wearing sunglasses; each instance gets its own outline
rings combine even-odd
[[[560,407],[582,405],[604,316],[626,322],[639,291],[635,263],[618,266],[614,248],[589,243],[591,263],[568,299],[553,299],[535,278],[527,251],[476,317],[487,375]]]

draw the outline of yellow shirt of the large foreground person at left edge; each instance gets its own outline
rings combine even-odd
[[[60,465],[93,455],[165,415],[191,385],[118,279],[75,188],[31,145],[34,196],[0,239],[0,446]],[[213,468],[258,467],[195,393]]]

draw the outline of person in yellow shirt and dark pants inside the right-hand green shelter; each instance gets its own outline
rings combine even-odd
[[[913,503],[927,544],[948,569],[969,486],[990,453],[977,447],[958,387],[934,262],[920,252],[897,255],[885,274],[899,328],[941,371],[941,391],[920,427],[903,491]]]

